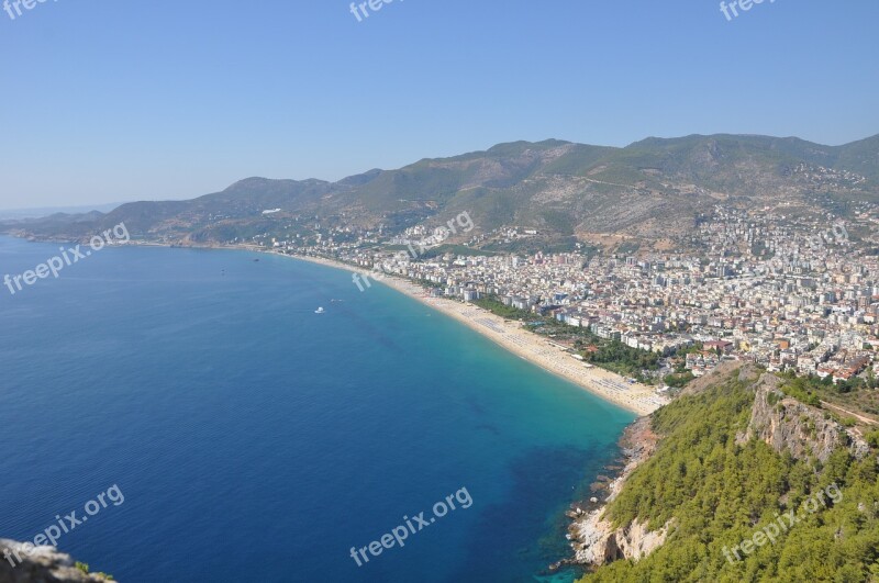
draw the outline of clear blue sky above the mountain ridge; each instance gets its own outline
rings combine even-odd
[[[2,0],[0,0],[2,1]],[[500,142],[879,133],[879,1],[49,0],[0,12],[0,209]],[[13,12],[14,13],[14,12]]]

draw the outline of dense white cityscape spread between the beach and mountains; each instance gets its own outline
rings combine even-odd
[[[869,239],[849,234],[875,224],[871,206],[860,211],[846,223],[717,206],[685,242],[687,253],[522,256],[474,248],[431,255],[419,249],[437,248],[447,233],[423,226],[388,238],[386,248],[374,234],[346,243],[330,234],[312,245],[264,244],[357,265],[374,279],[387,273],[424,282],[434,296],[494,298],[661,356],[696,346],[686,356],[693,377],[736,359],[839,382],[879,366],[879,260],[869,255]],[[536,234],[500,232],[508,239]]]

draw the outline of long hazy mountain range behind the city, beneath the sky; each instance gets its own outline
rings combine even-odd
[[[656,242],[686,234],[717,204],[845,215],[859,201],[879,201],[879,135],[844,146],[755,135],[649,137],[624,148],[548,139],[337,182],[248,178],[189,201],[7,221],[0,229],[81,238],[124,222],[135,237],[219,243],[310,223],[392,234],[466,211],[480,235],[523,227],[546,243]]]

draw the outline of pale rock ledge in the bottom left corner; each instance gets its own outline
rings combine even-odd
[[[21,542],[0,539],[0,583],[67,583],[107,581],[93,574],[86,574],[75,567],[69,554],[58,552],[55,547],[37,547],[31,553],[19,550]],[[7,549],[19,550],[19,562],[14,554],[11,561],[3,558]]]

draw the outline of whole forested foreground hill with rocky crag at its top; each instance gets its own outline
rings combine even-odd
[[[785,382],[736,370],[655,413],[659,445],[607,506],[617,540],[583,581],[879,581],[879,433]]]

